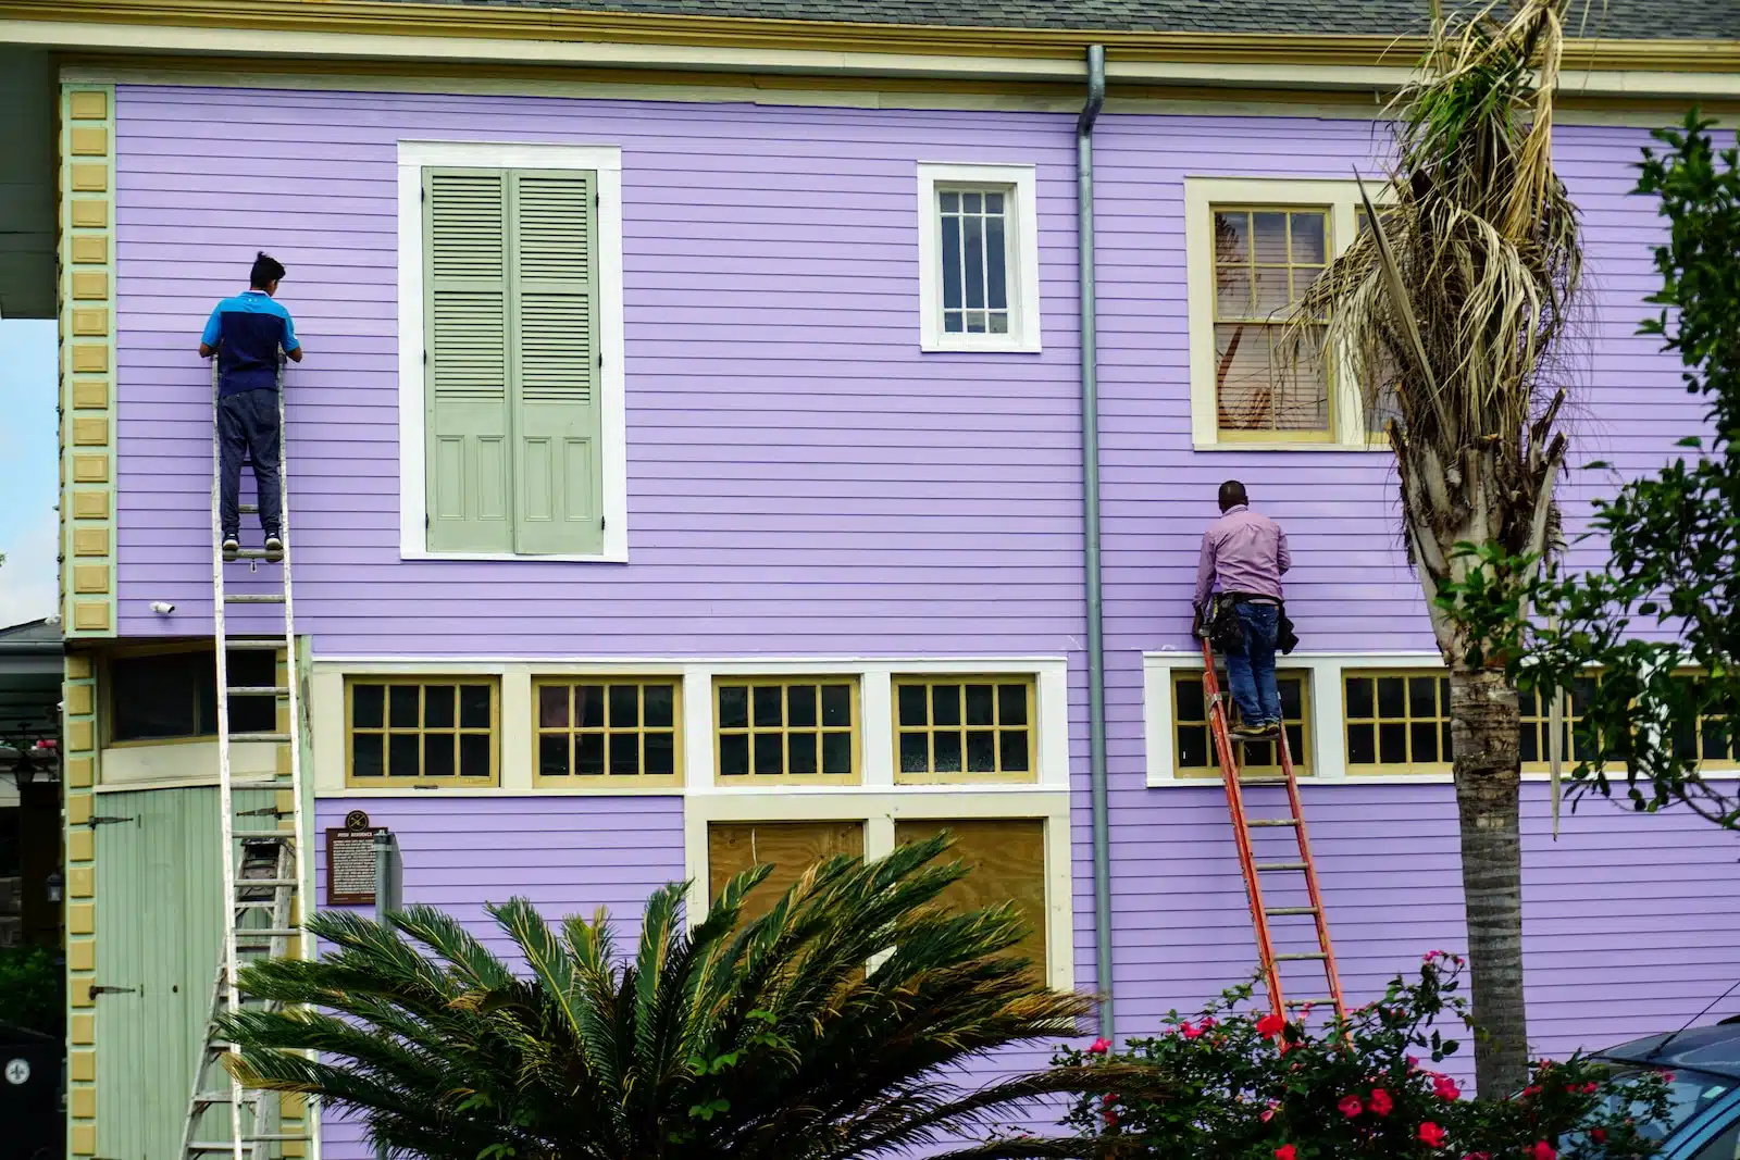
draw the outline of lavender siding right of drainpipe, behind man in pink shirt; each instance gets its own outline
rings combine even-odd
[[[1387,454],[1194,452],[1185,304],[1183,179],[1369,172],[1357,120],[1114,115],[1100,123],[1100,390],[1105,475],[1107,704],[1119,1028],[1152,1031],[1255,962],[1225,800],[1218,788],[1143,784],[1143,650],[1194,649],[1188,600],[1215,487],[1242,478],[1293,548],[1288,605],[1305,649],[1432,650],[1418,581],[1399,551]],[[1228,144],[1232,143],[1232,144]],[[1583,459],[1650,470],[1700,428],[1677,363],[1636,337],[1656,285],[1655,205],[1629,197],[1648,134],[1561,127],[1557,165],[1583,212],[1592,357],[1573,365],[1571,431]],[[1592,494],[1566,489],[1573,527]],[[1587,553],[1582,558],[1590,558]],[[1315,696],[1340,703],[1340,690]],[[1322,720],[1322,718],[1319,718]],[[1326,727],[1335,727],[1333,715]],[[1545,788],[1526,786],[1524,901],[1529,1030],[1564,1052],[1695,1016],[1733,981],[1740,873],[1731,838],[1684,816],[1585,807],[1552,843]],[[1436,786],[1307,790],[1350,998],[1371,998],[1432,948],[1467,944],[1455,795]],[[1077,840],[1088,842],[1079,795]],[[1086,882],[1077,906],[1086,908]],[[1300,972],[1308,977],[1308,972]],[[1321,986],[1321,984],[1319,984]],[[1724,1012],[1731,1014],[1731,1012]]]

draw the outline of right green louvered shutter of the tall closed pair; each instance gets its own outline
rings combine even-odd
[[[604,546],[597,174],[508,177],[513,551],[595,553]]]

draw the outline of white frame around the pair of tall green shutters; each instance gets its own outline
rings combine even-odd
[[[430,551],[425,477],[423,169],[590,169],[599,174],[599,405],[604,546],[597,553]],[[398,143],[398,558],[628,560],[628,431],[623,374],[623,151],[494,141]]]

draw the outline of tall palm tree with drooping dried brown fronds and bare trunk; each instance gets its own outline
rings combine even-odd
[[[1368,203],[1382,230],[1329,266],[1289,327],[1295,357],[1322,341],[1390,416],[1406,543],[1449,668],[1482,1094],[1526,1075],[1521,722],[1502,659],[1481,656],[1437,598],[1474,572],[1521,593],[1528,577],[1491,563],[1538,560],[1557,536],[1561,374],[1582,278],[1576,210],[1552,169],[1566,2],[1434,19],[1420,77],[1390,106],[1389,179]]]

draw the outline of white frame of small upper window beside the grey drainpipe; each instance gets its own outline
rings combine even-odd
[[[943,256],[938,186],[1002,186],[1009,228],[1007,334],[950,334],[943,330]],[[1039,353],[1039,205],[1034,165],[981,165],[919,162],[919,350]]]

